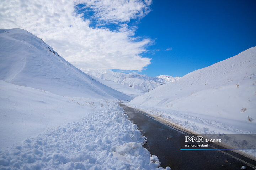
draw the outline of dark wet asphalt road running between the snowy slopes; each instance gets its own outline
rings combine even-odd
[[[173,170],[216,170],[241,169],[242,164],[247,169],[253,169],[256,162],[232,151],[181,151],[180,141],[183,136],[191,136],[170,125],[160,123],[154,117],[119,104],[125,110],[129,119],[133,121],[147,138],[144,145],[151,154],[157,155],[161,166],[170,166]],[[167,140],[168,139],[168,140]],[[214,147],[218,147],[214,145]],[[210,148],[213,149],[213,148]]]

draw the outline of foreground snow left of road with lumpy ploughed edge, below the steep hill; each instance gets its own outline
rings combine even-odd
[[[2,80],[0,94],[0,169],[163,169],[113,101]]]

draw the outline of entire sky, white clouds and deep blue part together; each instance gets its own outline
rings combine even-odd
[[[31,32],[84,72],[183,76],[256,46],[255,9],[256,0],[5,0],[0,28]]]

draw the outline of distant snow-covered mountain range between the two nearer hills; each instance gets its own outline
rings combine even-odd
[[[98,78],[98,81],[100,81],[103,84],[108,85],[109,87],[119,90],[127,95],[130,96],[139,96],[141,94],[144,94],[145,92],[148,92],[150,90],[155,89],[159,85],[171,83],[179,79],[180,77],[172,77],[168,75],[160,75],[157,77],[150,77],[147,75],[142,75],[138,73],[118,73],[113,72],[111,70],[91,70],[87,72],[89,75],[92,75],[96,78]],[[123,88],[116,88],[116,84],[109,83],[107,81],[101,81],[101,80],[107,80],[112,81],[115,83],[118,83],[119,86],[124,85]],[[129,87],[132,89],[137,89],[136,91],[132,90],[131,92],[124,92],[122,89],[127,89]]]

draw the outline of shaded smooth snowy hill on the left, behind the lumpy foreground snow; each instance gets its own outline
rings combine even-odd
[[[1,80],[62,96],[132,99],[93,80],[23,29],[1,29],[0,51]]]

